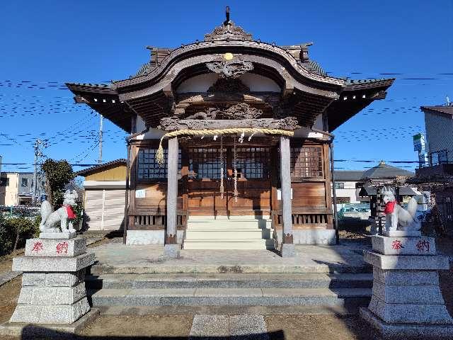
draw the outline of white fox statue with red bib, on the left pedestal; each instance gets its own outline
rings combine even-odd
[[[72,207],[76,206],[76,200],[79,196],[75,190],[67,190],[64,193],[64,201],[62,208],[59,208],[52,212],[52,205],[45,200],[41,204],[41,223],[40,231],[41,232],[60,232],[58,228],[58,223],[62,227],[62,232],[76,232],[74,227],[72,227],[71,220],[76,217]],[[67,220],[69,219],[69,226],[67,225]]]

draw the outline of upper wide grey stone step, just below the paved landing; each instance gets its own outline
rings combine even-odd
[[[372,273],[345,274],[103,274],[89,289],[120,288],[372,288]]]

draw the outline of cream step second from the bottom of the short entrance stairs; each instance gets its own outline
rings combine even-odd
[[[188,229],[185,242],[191,239],[270,239],[270,229]]]

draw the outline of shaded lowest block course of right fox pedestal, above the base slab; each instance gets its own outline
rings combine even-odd
[[[385,303],[375,295],[368,309],[384,322],[395,324],[453,324],[445,305],[415,305],[401,300],[399,304]]]

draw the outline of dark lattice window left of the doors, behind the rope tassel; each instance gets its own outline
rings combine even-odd
[[[156,160],[157,149],[139,149],[137,154],[137,179],[162,180],[167,179],[168,150],[164,149],[165,164],[160,167]],[[178,154],[178,169],[180,169],[181,154]]]

